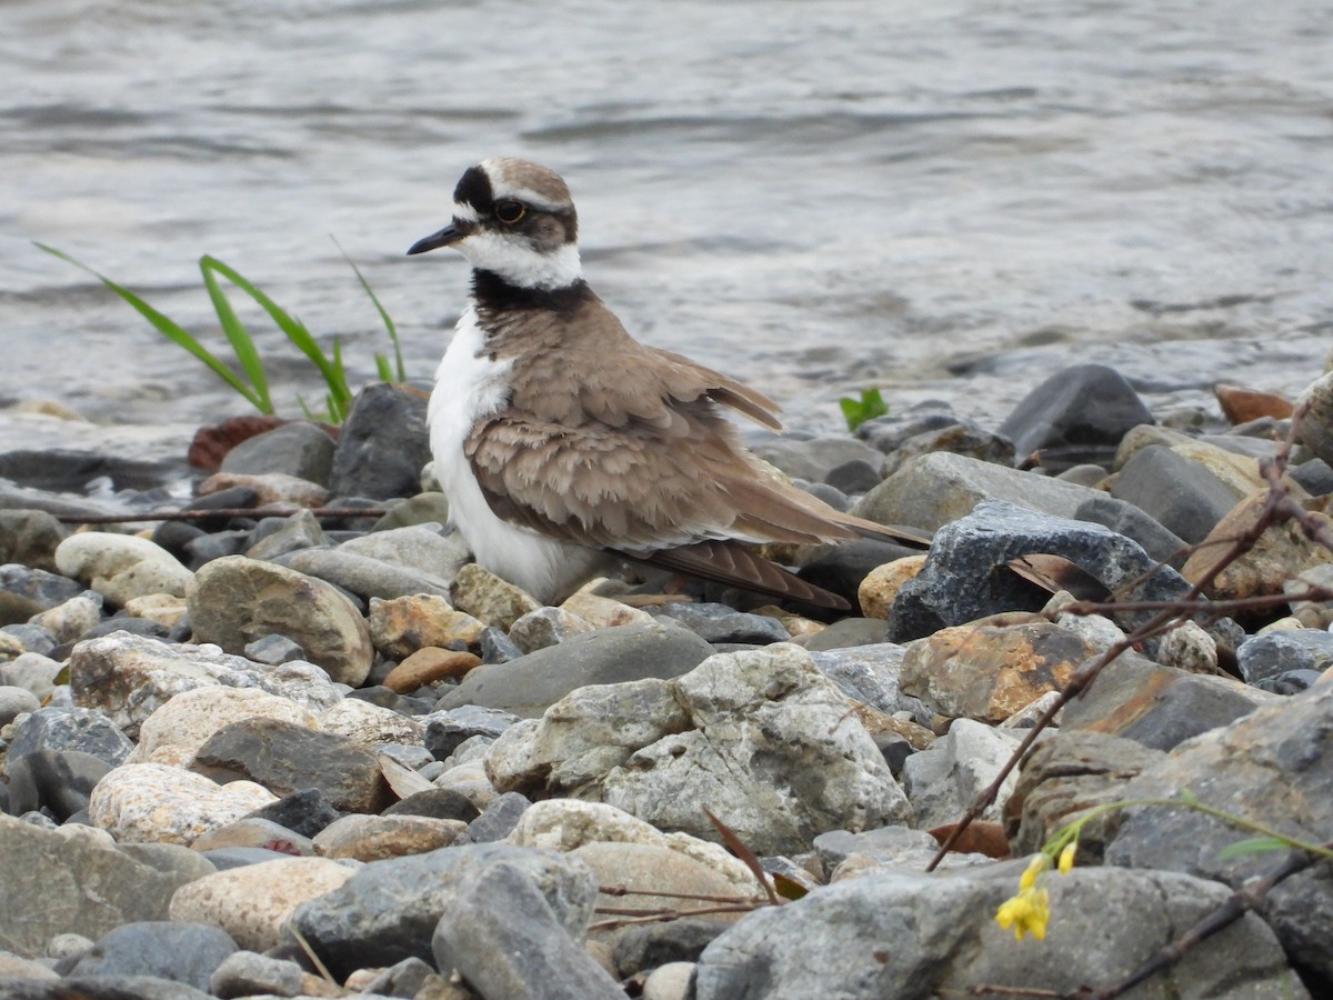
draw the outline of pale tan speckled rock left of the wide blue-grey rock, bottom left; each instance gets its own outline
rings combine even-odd
[[[171,900],[171,919],[215,924],[241,948],[263,952],[283,940],[292,912],[332,892],[356,867],[325,857],[281,857],[231,868],[183,885]]]

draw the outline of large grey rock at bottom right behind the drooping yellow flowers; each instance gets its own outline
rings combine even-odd
[[[1016,892],[1021,867],[948,876],[876,872],[758,909],[704,949],[694,997],[925,1000],[964,996],[982,984],[1057,993],[1100,989],[1153,957],[1228,895],[1214,883],[1170,872],[1076,868],[1046,883],[1052,916],[1045,940],[1017,943],[994,913]],[[1272,931],[1253,913],[1188,949],[1141,989],[1144,996],[1200,1000],[1306,996]]]

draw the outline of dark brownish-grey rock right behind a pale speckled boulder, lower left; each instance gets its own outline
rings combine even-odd
[[[224,725],[199,748],[191,769],[220,783],[257,781],[279,796],[317,788],[345,812],[377,813],[395,800],[373,751],[279,719]]]

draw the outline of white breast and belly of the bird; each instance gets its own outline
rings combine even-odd
[[[449,519],[477,563],[548,603],[588,579],[604,556],[509,524],[492,512],[481,495],[463,443],[479,417],[508,403],[505,376],[511,364],[487,357],[485,336],[468,307],[435,375],[427,417],[431,453],[436,479],[449,499]]]

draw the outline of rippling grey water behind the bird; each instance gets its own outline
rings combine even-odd
[[[101,423],[245,405],[32,240],[211,339],[219,256],[368,379],[336,236],[427,377],[467,273],[403,253],[491,155],[564,173],[632,332],[797,428],[870,384],[996,421],[1076,360],[1157,405],[1296,392],[1333,329],[1333,17],[1304,0],[5,0],[0,79],[0,397]],[[317,380],[243,315],[299,413]]]

